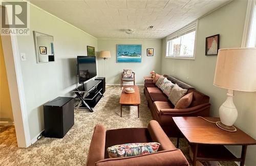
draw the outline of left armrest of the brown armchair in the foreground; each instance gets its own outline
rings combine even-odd
[[[96,125],[93,132],[91,145],[87,156],[88,166],[95,165],[95,162],[104,159],[105,152],[105,136],[104,126]]]

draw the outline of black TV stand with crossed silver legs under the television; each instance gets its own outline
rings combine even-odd
[[[76,99],[80,100],[76,109],[93,109],[99,100],[103,97],[101,80],[91,80],[87,83],[82,83],[73,92],[76,94]]]

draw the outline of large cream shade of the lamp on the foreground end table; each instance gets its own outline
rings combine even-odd
[[[220,49],[214,85],[239,91],[256,91],[256,48]]]

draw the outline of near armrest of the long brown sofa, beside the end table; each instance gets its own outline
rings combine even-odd
[[[205,104],[200,104],[195,107],[189,107],[189,108],[184,108],[184,109],[161,109],[160,114],[164,115],[182,115],[182,114],[192,114],[192,113],[197,113],[203,110],[210,110],[210,103],[205,103]]]

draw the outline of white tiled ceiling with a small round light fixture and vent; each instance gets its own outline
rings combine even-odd
[[[230,0],[32,0],[97,38],[163,38]],[[154,26],[147,30],[148,26]],[[125,29],[134,29],[126,34]]]

